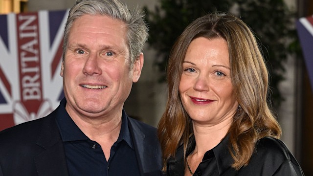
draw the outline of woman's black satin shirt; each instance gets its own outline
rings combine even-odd
[[[286,145],[271,137],[264,137],[256,144],[256,150],[246,167],[236,171],[231,167],[234,162],[228,150],[229,136],[216,147],[207,151],[194,176],[304,176],[301,167]],[[192,142],[188,156],[195,148]],[[175,158],[167,160],[167,176],[183,176],[183,147],[179,146]]]

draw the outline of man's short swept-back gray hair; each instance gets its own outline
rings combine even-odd
[[[148,37],[148,26],[144,22],[144,13],[138,8],[129,10],[118,0],[76,0],[70,9],[64,31],[63,60],[67,50],[68,36],[73,22],[83,15],[103,15],[125,22],[127,25],[127,43],[131,63],[139,57]]]

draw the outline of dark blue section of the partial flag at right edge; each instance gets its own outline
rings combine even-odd
[[[296,22],[296,27],[313,89],[313,36],[300,21]]]

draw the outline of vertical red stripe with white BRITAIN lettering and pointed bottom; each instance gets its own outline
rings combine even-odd
[[[37,113],[43,102],[38,13],[16,16],[21,103]]]

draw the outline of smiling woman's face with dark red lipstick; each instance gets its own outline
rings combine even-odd
[[[193,122],[216,125],[231,120],[237,110],[224,39],[194,39],[188,46],[179,83],[184,109]]]

